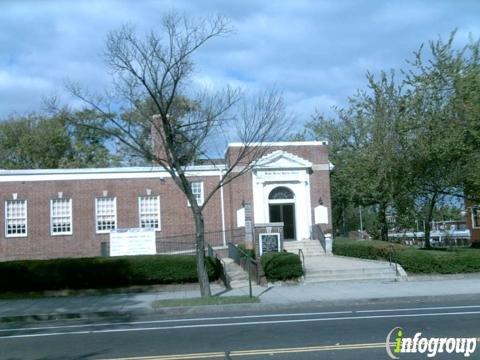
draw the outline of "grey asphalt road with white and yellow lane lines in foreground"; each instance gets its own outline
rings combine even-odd
[[[480,299],[4,324],[0,359],[387,359],[397,326],[408,337],[480,338]]]

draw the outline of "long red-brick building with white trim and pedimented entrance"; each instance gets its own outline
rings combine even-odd
[[[241,146],[228,145],[225,164]],[[319,203],[331,223],[327,143],[264,146],[268,151],[253,170],[206,205],[206,232],[222,234],[214,245],[225,245],[225,233],[243,226],[237,215],[245,203],[252,205],[255,224],[283,222],[286,240],[310,238]],[[199,203],[225,164],[186,169]],[[0,196],[0,260],[99,256],[116,228],[153,227],[157,245],[194,233],[185,196],[158,167],[1,170]]]

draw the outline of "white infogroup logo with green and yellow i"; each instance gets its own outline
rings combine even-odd
[[[421,332],[411,338],[405,337],[405,331],[401,327],[395,327],[388,333],[385,347],[391,359],[400,359],[398,356],[404,353],[426,353],[429,358],[442,353],[470,357],[477,348],[477,338],[426,338],[422,337]]]

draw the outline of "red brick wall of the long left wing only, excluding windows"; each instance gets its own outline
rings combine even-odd
[[[218,182],[218,177],[192,178],[203,180],[205,196]],[[104,190],[108,196],[117,198],[117,227],[138,227],[138,197],[160,195],[161,231],[157,237],[193,234],[194,221],[187,200],[171,179],[115,179],[115,180],[68,180],[1,183],[0,186],[0,258],[53,258],[65,256],[98,256],[100,244],[108,234],[96,234],[95,198]],[[50,200],[72,198],[73,235],[50,235]],[[28,236],[5,237],[5,201],[12,199],[28,201]],[[205,230],[222,229],[220,192],[217,192],[205,208]]]

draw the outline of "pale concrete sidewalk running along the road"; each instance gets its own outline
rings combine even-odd
[[[225,291],[219,285],[212,286],[218,296],[248,295],[248,287]],[[280,284],[269,287],[253,287],[260,304],[222,305],[255,306],[256,309],[278,305],[302,303],[336,303],[409,297],[438,297],[455,295],[479,295],[480,275],[464,277],[431,276],[410,277],[409,281],[342,281],[318,284]],[[67,296],[52,298],[0,300],[0,322],[54,320],[64,318],[94,318],[105,316],[131,316],[148,313],[168,313],[173,308],[154,310],[151,303],[162,299],[184,299],[199,296],[196,286],[168,287],[168,291],[136,294],[110,294],[97,296]],[[205,307],[202,307],[205,309]],[[253,307],[252,307],[253,308]],[[183,308],[183,313],[189,309]],[[176,313],[178,313],[178,308]]]

